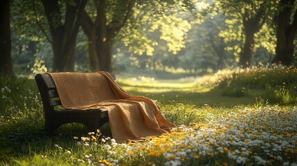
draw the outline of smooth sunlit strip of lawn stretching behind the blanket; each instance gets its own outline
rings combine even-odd
[[[235,98],[223,95],[222,91],[210,84],[198,84],[194,80],[117,80],[118,84],[134,95],[144,95],[159,101],[161,104],[172,102],[193,104],[204,107],[206,104],[212,107],[248,106],[255,102],[254,96],[242,96]]]

